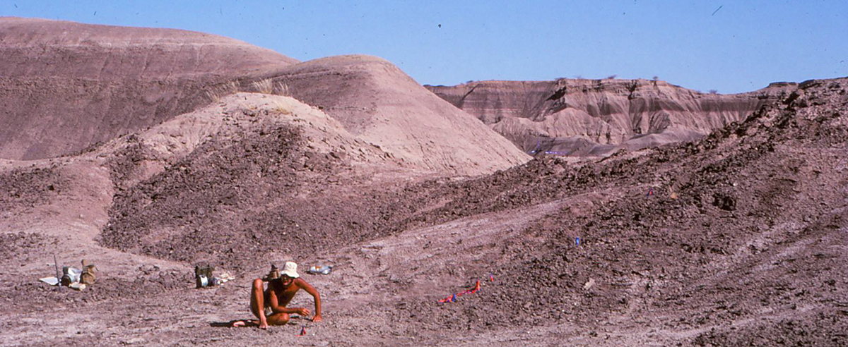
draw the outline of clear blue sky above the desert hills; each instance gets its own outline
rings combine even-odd
[[[650,79],[721,93],[848,76],[845,1],[28,1],[0,15],[197,30],[310,60],[386,58],[421,84]]]

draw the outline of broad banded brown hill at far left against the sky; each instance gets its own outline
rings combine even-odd
[[[297,60],[186,30],[0,18],[0,157],[79,151]]]

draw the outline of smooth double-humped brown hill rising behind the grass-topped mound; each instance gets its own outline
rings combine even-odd
[[[483,174],[527,160],[477,119],[381,58],[297,63],[185,30],[0,19],[0,157],[56,157],[238,91],[286,94],[410,168]]]

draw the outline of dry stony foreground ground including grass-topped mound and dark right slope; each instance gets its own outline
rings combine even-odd
[[[413,172],[296,102],[233,100],[0,162],[0,344],[848,344],[848,80],[695,142],[476,177]],[[54,254],[98,283],[38,282]],[[286,260],[334,266],[304,274],[325,322],[222,327]],[[194,289],[198,263],[237,279]]]

